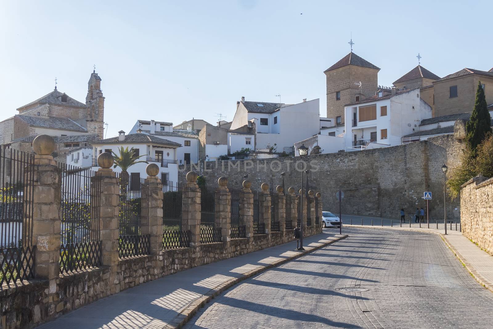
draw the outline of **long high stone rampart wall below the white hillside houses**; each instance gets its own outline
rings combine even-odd
[[[443,220],[443,173],[446,163],[451,171],[459,164],[463,144],[453,135],[438,136],[427,141],[401,146],[376,148],[354,152],[338,152],[307,156],[306,162],[316,161],[309,174],[309,189],[320,191],[324,211],[339,211],[336,192],[344,192],[342,213],[348,215],[400,218],[404,208],[406,217],[414,214],[417,207],[425,209],[424,191],[431,191],[430,219]],[[215,182],[219,177],[228,178],[235,186],[248,177],[252,189],[259,190],[263,182],[271,186],[282,184],[299,189],[301,172],[295,169],[299,157],[275,159],[217,161],[200,163],[196,170],[206,179]],[[301,168],[301,166],[299,166]],[[178,181],[184,182],[189,167],[178,169]],[[306,177],[306,176],[305,176]],[[305,183],[305,182],[304,182]],[[460,200],[448,201],[448,219],[460,218]]]

